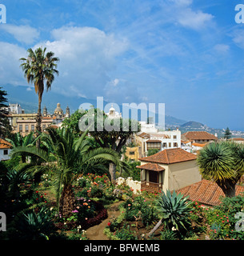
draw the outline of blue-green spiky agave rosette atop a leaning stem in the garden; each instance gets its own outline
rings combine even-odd
[[[183,194],[176,194],[175,191],[171,194],[170,190],[166,190],[166,194],[162,192],[156,198],[155,206],[170,230],[173,227],[178,231],[186,229],[186,225],[190,223],[187,215],[191,209],[187,198],[183,198]]]

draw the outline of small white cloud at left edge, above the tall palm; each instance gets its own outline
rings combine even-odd
[[[33,43],[40,35],[38,30],[28,25],[17,26],[13,24],[5,24],[4,26],[1,26],[1,29],[12,34],[18,42],[24,42],[26,44]]]

